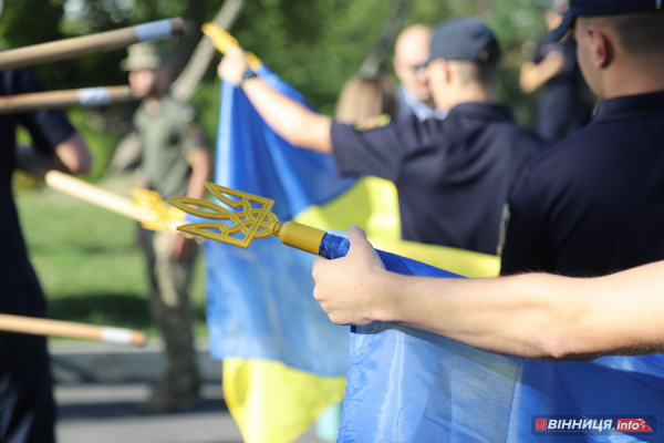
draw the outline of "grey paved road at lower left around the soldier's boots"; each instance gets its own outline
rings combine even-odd
[[[186,413],[146,415],[136,404],[164,370],[160,343],[145,349],[100,343],[50,343],[56,380],[60,443],[240,443],[221,392],[220,363],[199,343],[207,380],[203,402]],[[310,429],[298,443],[321,443]]]

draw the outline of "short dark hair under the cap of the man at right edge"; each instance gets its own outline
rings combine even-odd
[[[596,18],[614,32],[618,43],[630,54],[647,55],[664,51],[664,13],[632,13]]]

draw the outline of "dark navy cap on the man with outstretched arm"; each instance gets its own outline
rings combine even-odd
[[[460,18],[447,21],[434,32],[429,60],[492,62],[500,59],[494,32],[481,21]]]

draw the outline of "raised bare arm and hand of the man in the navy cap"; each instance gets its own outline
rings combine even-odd
[[[241,86],[258,113],[282,138],[299,147],[332,152],[332,119],[311,112],[274,91],[258,76],[242,80],[242,74],[248,69],[245,51],[236,47],[219,63],[218,74],[236,86]]]

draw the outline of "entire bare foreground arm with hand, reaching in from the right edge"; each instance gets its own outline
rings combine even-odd
[[[319,258],[314,297],[340,324],[390,321],[528,358],[664,350],[664,261],[612,276],[437,279],[387,272],[360,229],[344,258]]]

